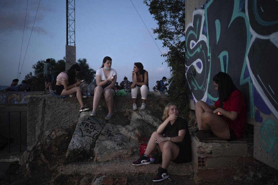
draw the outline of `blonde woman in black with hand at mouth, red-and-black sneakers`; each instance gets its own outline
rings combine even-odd
[[[179,116],[175,103],[168,103],[164,108],[162,120],[158,129],[153,132],[145,153],[132,164],[140,166],[150,164],[149,155],[158,145],[162,152],[162,165],[158,168],[154,182],[162,181],[169,177],[167,168],[169,163],[184,163],[191,161],[191,139],[188,124],[185,119]]]

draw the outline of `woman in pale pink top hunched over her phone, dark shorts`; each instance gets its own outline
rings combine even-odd
[[[77,100],[80,104],[79,111],[89,110],[83,103],[81,87],[79,86],[82,82],[76,80],[77,73],[80,72],[80,66],[73,64],[67,71],[61,72],[56,78],[56,94],[57,95],[73,95],[76,93]]]

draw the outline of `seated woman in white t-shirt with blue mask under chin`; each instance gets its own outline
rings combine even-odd
[[[112,59],[110,57],[104,57],[101,68],[96,71],[97,86],[94,89],[93,111],[90,114],[91,116],[96,116],[98,103],[103,96],[109,110],[105,117],[106,120],[111,119],[113,116],[113,98],[115,96],[113,87],[117,81],[117,72],[111,68],[111,65]]]

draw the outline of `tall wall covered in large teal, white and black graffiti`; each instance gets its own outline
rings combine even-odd
[[[190,2],[186,2],[186,9],[193,10],[196,3]],[[244,93],[248,123],[254,125],[254,158],[276,169],[277,8],[274,0],[209,0],[193,11],[186,26],[186,78],[191,100],[213,104],[217,100],[213,76],[220,71],[231,75]]]

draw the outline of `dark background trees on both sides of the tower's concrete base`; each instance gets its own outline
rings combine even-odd
[[[45,82],[43,77],[43,67],[45,64],[45,60],[40,60],[36,64],[32,66],[34,69],[34,75],[32,72],[25,76],[25,80],[27,84],[31,87],[32,91],[43,91],[45,89]],[[50,58],[50,64],[54,66],[54,82],[52,84],[52,89],[56,89],[56,77],[62,71],[65,71],[65,57],[63,60],[55,61],[54,58]],[[94,78],[96,71],[94,69],[89,68],[89,64],[87,64],[87,59],[78,59],[77,64],[80,66],[80,73],[78,73],[78,79],[85,79],[86,83],[91,83]]]

